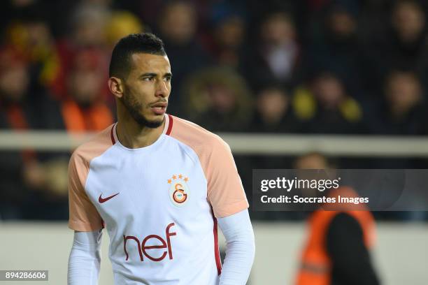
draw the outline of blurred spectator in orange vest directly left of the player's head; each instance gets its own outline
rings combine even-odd
[[[113,124],[113,114],[102,96],[106,78],[100,70],[101,60],[92,50],[82,50],[73,59],[61,108],[67,131],[101,131]]]

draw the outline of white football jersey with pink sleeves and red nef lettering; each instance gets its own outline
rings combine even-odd
[[[115,124],[73,152],[69,227],[110,236],[115,284],[218,284],[218,217],[248,207],[229,146],[165,116],[162,135],[129,149]]]

